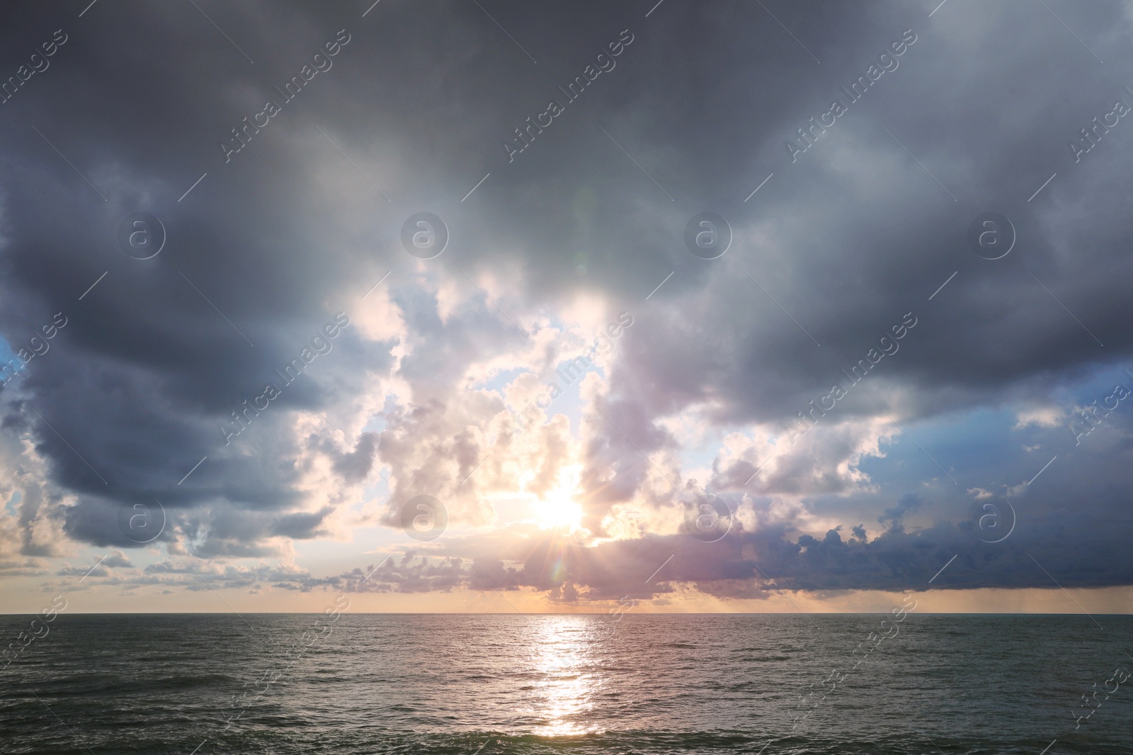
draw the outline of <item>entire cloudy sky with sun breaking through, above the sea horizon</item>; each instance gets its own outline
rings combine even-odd
[[[1130,3],[5,12],[0,611],[1133,607]]]

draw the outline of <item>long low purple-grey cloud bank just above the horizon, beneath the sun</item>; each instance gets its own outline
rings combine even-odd
[[[358,592],[428,592],[568,587],[568,602],[651,599],[681,583],[724,599],[765,599],[782,590],[960,590],[980,587],[1100,587],[1127,584],[1133,556],[1117,538],[1101,535],[1101,521],[1060,509],[1020,525],[1002,543],[980,541],[972,525],[938,523],[915,532],[889,530],[872,541],[791,535],[783,526],[733,531],[719,542],[689,535],[651,535],[594,548],[571,547],[557,535],[512,541],[492,556],[460,558],[414,554],[391,558],[361,583],[360,573],[337,584]],[[1118,542],[1121,541],[1121,542]],[[459,546],[467,552],[470,542]],[[475,548],[475,546],[471,546]],[[451,549],[449,552],[453,552]],[[955,560],[953,559],[955,556]],[[509,561],[511,565],[509,565]],[[947,565],[944,572],[943,567]],[[1045,570],[1043,570],[1045,569]],[[940,572],[938,575],[937,573]],[[352,580],[352,581],[351,581]],[[1057,581],[1056,581],[1057,580]]]

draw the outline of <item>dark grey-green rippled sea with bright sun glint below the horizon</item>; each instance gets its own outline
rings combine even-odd
[[[0,752],[1133,753],[1133,617],[901,618],[60,615]]]

